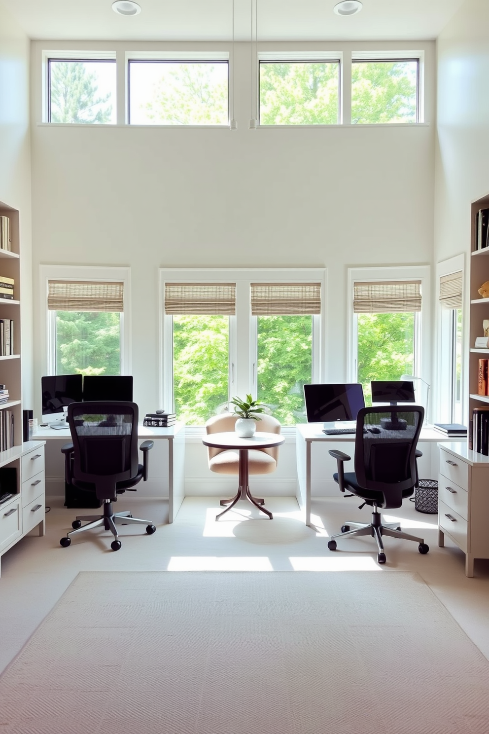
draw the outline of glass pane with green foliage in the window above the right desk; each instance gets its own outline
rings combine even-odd
[[[370,381],[413,374],[414,313],[358,314],[358,380],[372,405]]]

